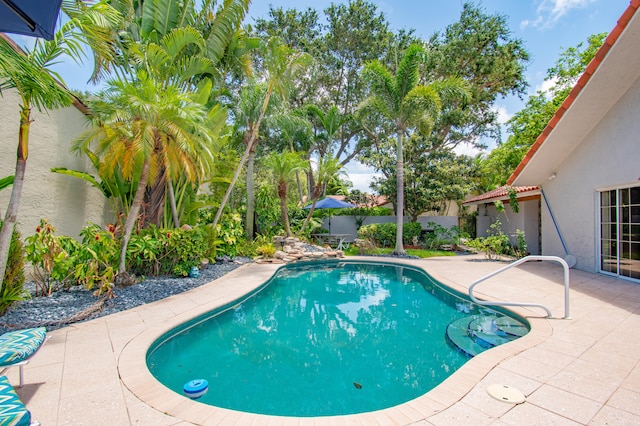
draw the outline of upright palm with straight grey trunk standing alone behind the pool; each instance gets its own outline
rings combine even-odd
[[[378,61],[365,65],[364,77],[370,85],[371,96],[359,107],[360,115],[368,111],[379,114],[393,123],[396,133],[396,246],[394,253],[404,254],[402,228],[404,222],[404,138],[412,130],[428,136],[435,118],[440,114],[442,97],[469,97],[465,84],[459,79],[449,79],[420,85],[419,68],[425,62],[422,46],[413,44],[407,48],[398,64],[396,74]],[[366,126],[365,126],[366,127]]]

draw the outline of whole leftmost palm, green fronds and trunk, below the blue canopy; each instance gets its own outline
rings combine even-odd
[[[111,25],[117,13],[106,3],[87,6],[82,2],[66,4],[66,22],[54,35],[53,40],[36,40],[30,51],[23,51],[10,39],[0,37],[0,93],[14,89],[20,96],[20,130],[16,171],[4,224],[0,229],[0,287],[7,266],[11,235],[18,219],[18,209],[24,185],[24,176],[29,157],[29,130],[31,109],[48,111],[71,105],[73,95],[59,82],[60,76],[50,67],[63,55],[80,61],[83,57],[82,43],[92,48],[95,57],[110,58],[109,43]]]

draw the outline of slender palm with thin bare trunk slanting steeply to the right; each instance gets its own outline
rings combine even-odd
[[[284,45],[277,37],[271,37],[267,41],[267,45],[264,47],[264,80],[266,84],[266,90],[264,98],[262,99],[262,106],[258,113],[258,117],[254,124],[248,129],[248,136],[245,139],[245,151],[236,167],[236,171],[231,179],[231,183],[227,188],[220,207],[216,212],[216,216],[213,219],[212,226],[215,228],[222,216],[231,191],[238,181],[238,177],[242,172],[244,164],[247,162],[249,156],[255,151],[258,144],[258,132],[260,125],[265,117],[267,108],[271,101],[271,96],[277,93],[281,99],[287,99],[291,84],[295,81],[296,75],[304,70],[311,62],[311,57],[302,52],[296,52],[290,47]],[[253,176],[248,176],[247,180],[253,180]]]

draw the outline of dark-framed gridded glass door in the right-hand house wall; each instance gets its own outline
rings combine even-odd
[[[640,186],[600,192],[600,271],[640,280]]]

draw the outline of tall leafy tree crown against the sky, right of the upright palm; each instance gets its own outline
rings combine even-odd
[[[487,14],[480,6],[464,3],[460,19],[429,41],[430,61],[424,78],[464,79],[471,91],[466,102],[447,102],[431,135],[434,149],[459,144],[482,147],[482,138],[500,140],[495,102],[507,95],[522,96],[527,82],[529,53],[514,38],[507,18]]]

